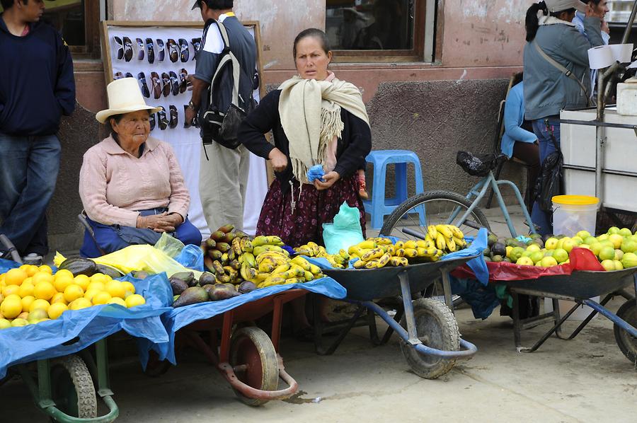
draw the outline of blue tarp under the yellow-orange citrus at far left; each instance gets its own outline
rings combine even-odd
[[[2,260],[0,273],[17,266]],[[6,376],[9,366],[73,354],[120,330],[152,342],[167,342],[168,334],[159,318],[172,310],[169,304],[173,294],[166,274],[143,280],[126,276],[120,280],[132,282],[146,303],[132,309],[110,304],[65,311],[57,320],[0,330],[0,379]],[[64,345],[71,340],[71,344]]]

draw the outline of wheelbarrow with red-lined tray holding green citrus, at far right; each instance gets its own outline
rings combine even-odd
[[[553,333],[562,340],[572,340],[599,313],[614,324],[615,340],[621,352],[633,364],[637,364],[637,303],[635,297],[625,290],[627,286],[631,285],[637,289],[637,267],[612,272],[574,271],[568,275],[550,275],[537,279],[498,281],[498,283],[506,284],[513,297],[514,339],[518,351],[536,351]],[[553,311],[536,318],[522,320],[517,307],[519,294],[550,298],[553,301]],[[604,306],[617,295],[624,296],[627,301],[617,313],[612,313]],[[597,301],[592,300],[596,296],[604,296],[604,298],[597,303]],[[565,315],[561,316],[558,300],[574,301],[576,304]],[[571,335],[564,336],[561,332],[563,323],[583,305],[592,308],[592,312]],[[530,324],[537,325],[546,320],[553,321],[553,328],[546,332],[532,347],[522,347],[520,333],[522,328],[528,327]]]

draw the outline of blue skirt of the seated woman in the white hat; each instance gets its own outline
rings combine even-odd
[[[166,212],[166,210],[167,209],[150,209],[150,210],[141,210],[139,213],[142,216],[150,216],[151,214],[161,214],[163,212]],[[88,221],[88,224],[91,225],[91,228],[93,228],[93,234],[95,236],[95,239],[99,247],[98,245],[96,245],[95,241],[93,241],[91,234],[88,233],[88,231],[84,231],[84,244],[82,245],[82,248],[80,248],[80,255],[82,257],[88,257],[88,258],[100,257],[103,253],[110,254],[115,251],[119,251],[122,248],[126,248],[129,245],[144,243],[144,241],[141,241],[141,240],[137,240],[137,241],[131,240],[130,238],[131,231],[127,231],[127,229],[132,230],[132,228],[127,228],[126,226],[120,226],[120,225],[99,224],[98,222],[92,221],[91,219],[88,219],[88,218],[86,219],[86,221]],[[161,236],[161,233],[156,233],[153,231],[151,232],[154,235],[156,235],[159,241],[159,236]],[[186,217],[183,224],[180,224],[179,226],[177,226],[175,232],[169,233],[169,235],[177,238],[179,241],[181,241],[185,245],[188,245],[188,244],[201,245],[201,233],[199,229],[195,227],[195,225],[190,223],[190,221],[188,220],[188,217]],[[145,237],[144,235],[142,236]],[[150,242],[147,241],[145,243],[150,243]],[[102,251],[100,250],[100,248]]]

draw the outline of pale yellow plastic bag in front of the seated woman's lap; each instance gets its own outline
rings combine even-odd
[[[64,261],[64,256],[57,253],[54,258],[54,264],[59,267]],[[183,267],[178,262],[168,257],[166,253],[154,248],[152,245],[130,245],[122,250],[115,251],[91,259],[98,265],[107,265],[121,270],[124,274],[133,270],[143,270],[149,273],[166,272],[168,277],[179,272],[193,272],[195,277],[199,279],[202,272]],[[59,261],[59,263],[58,263]]]

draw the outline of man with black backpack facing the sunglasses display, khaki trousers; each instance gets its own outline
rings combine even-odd
[[[243,228],[248,184],[249,152],[236,140],[236,127],[253,104],[257,52],[253,35],[232,12],[233,3],[197,0],[193,6],[206,24],[185,118],[190,124],[197,116],[201,126],[199,192],[211,232],[224,224]]]

